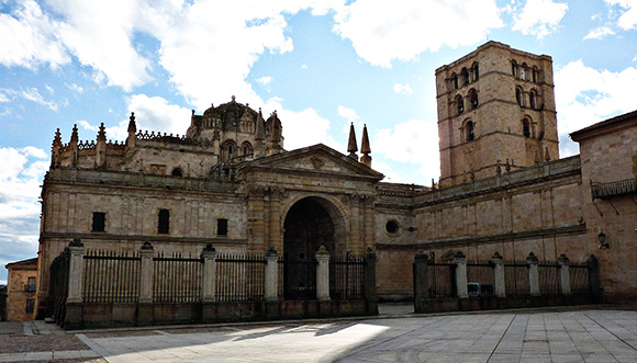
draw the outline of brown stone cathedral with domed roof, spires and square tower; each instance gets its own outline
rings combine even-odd
[[[42,188],[37,309],[53,259],[87,248],[198,254],[264,252],[312,259],[377,252],[381,299],[413,296],[418,250],[472,260],[595,254],[607,300],[637,297],[637,112],[571,134],[560,159],[552,61],[496,42],[436,70],[440,181],[382,182],[367,129],[347,154],[318,144],[286,150],[284,120],[232,100],[192,112],[182,136],[138,131],[124,143],[68,143],[59,129]],[[358,152],[360,145],[360,155]],[[613,192],[608,185],[633,180]],[[599,193],[601,186],[611,190]],[[607,236],[606,248],[597,241]]]

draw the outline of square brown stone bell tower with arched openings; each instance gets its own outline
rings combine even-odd
[[[489,42],[436,69],[440,184],[557,159],[552,60]]]

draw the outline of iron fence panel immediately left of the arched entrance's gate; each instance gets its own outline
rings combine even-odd
[[[215,285],[217,300],[262,300],[265,269],[266,260],[262,254],[217,254]]]

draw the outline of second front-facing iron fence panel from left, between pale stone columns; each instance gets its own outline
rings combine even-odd
[[[201,300],[201,266],[198,258],[181,253],[153,258],[154,303],[198,303]]]

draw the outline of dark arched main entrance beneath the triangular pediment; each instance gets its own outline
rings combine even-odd
[[[343,249],[343,216],[332,202],[310,196],[292,205],[283,228],[284,297],[313,299],[316,296],[314,256],[321,246],[325,246],[332,258]]]

